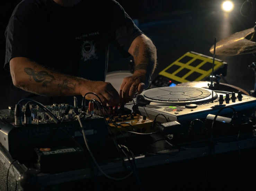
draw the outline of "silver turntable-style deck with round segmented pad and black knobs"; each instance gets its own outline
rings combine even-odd
[[[212,91],[196,87],[161,87],[143,91],[136,99],[135,110],[141,115],[155,119],[163,114],[171,121],[184,123],[193,119],[205,119],[208,114],[216,114],[220,108],[230,105],[236,111],[254,110],[256,99],[242,95],[241,91]],[[233,112],[226,109],[221,112]],[[166,122],[159,115],[157,121]]]

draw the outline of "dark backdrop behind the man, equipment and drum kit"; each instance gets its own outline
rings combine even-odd
[[[20,0],[1,3],[0,29],[0,109],[8,107],[10,73],[3,69],[5,62],[4,32],[12,11]],[[249,17],[240,14],[244,0],[233,0],[234,10],[225,13],[221,0],[118,0],[132,19],[139,20],[139,28],[155,43],[158,67],[153,78],[188,51],[212,56],[209,52],[214,37],[217,40],[255,25],[256,10]],[[100,6],[100,5],[99,5]],[[255,6],[256,7],[256,6]],[[256,61],[252,54],[234,57],[217,56],[228,63],[227,81],[246,91],[253,89],[254,72],[247,66]],[[108,72],[129,70],[131,58],[123,59],[113,47],[109,51]]]

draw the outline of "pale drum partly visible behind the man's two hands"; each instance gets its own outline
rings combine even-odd
[[[110,82],[112,86],[117,90],[119,93],[120,86],[123,82],[123,79],[129,76],[132,76],[133,74],[130,71],[114,71],[114,72],[109,72],[106,75],[106,80],[105,82]]]

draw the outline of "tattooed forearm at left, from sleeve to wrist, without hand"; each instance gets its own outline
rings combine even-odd
[[[25,61],[21,59],[19,64],[10,63],[10,69],[15,86],[44,96],[80,94],[80,86],[86,81],[82,78],[54,72],[28,59]]]

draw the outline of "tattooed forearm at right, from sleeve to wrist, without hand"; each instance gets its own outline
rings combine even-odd
[[[157,50],[152,41],[143,36],[136,41],[133,50],[134,57],[134,74],[146,74],[150,78],[157,65]]]

